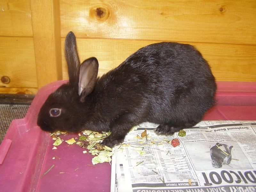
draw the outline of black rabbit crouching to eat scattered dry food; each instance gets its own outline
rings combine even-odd
[[[85,60],[79,71],[72,32],[66,37],[65,50],[69,83],[60,86],[42,106],[37,124],[45,131],[110,130],[102,144],[113,147],[133,125],[146,121],[160,124],[157,134],[190,128],[214,104],[215,79],[192,45],[148,45],[97,79],[96,58]],[[83,82],[86,85],[81,85]],[[61,115],[50,116],[51,108],[61,109]]]

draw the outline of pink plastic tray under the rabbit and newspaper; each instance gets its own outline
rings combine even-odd
[[[54,140],[36,125],[42,104],[64,82],[40,89],[26,117],[12,121],[0,146],[1,191],[110,191],[109,163],[92,166],[91,154],[83,154],[77,145],[65,143],[52,150]],[[218,82],[216,98],[204,120],[256,120],[256,82]]]

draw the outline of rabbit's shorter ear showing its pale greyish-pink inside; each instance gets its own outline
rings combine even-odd
[[[78,84],[80,101],[83,102],[84,98],[92,92],[96,83],[98,69],[99,63],[95,57],[91,57],[81,64]]]

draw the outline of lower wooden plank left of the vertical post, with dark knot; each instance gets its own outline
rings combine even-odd
[[[34,42],[32,37],[0,37],[0,87],[37,87]]]

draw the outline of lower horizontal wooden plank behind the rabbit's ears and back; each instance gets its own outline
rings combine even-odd
[[[62,38],[62,51],[64,50]],[[157,41],[77,39],[80,61],[89,57],[99,60],[99,76],[121,64],[139,48]],[[217,81],[256,81],[256,46],[194,43],[208,60]],[[62,55],[64,55],[62,53]],[[65,58],[62,57],[63,79],[68,79]]]

